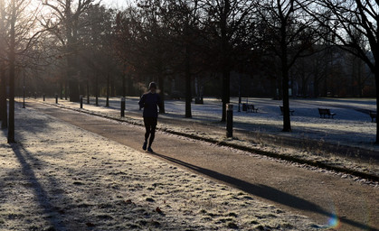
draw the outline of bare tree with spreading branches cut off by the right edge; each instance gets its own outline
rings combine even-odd
[[[328,34],[332,35],[329,36],[329,41],[364,60],[374,73],[376,108],[378,109],[378,2],[376,0],[317,0],[311,2],[316,4],[308,3],[303,7],[309,15],[312,15],[318,23],[326,28]],[[360,35],[363,35],[363,38]],[[379,144],[379,123],[376,124],[375,143]]]

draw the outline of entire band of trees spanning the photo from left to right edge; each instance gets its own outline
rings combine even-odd
[[[275,69],[285,132],[291,131],[289,73],[298,60],[339,46],[365,61],[376,88],[379,84],[374,0],[141,0],[124,10],[92,0],[45,0],[34,6],[38,11],[17,5],[24,1],[0,5],[10,130],[14,73],[55,81],[62,97],[71,101],[90,92],[98,97],[103,85],[109,96],[119,86],[115,76],[123,96],[132,85],[156,80],[164,98],[166,80],[180,77],[186,117],[192,116],[194,77],[214,75],[222,82],[224,121],[232,71],[264,78]],[[23,23],[17,11],[28,14],[29,21]],[[14,28],[23,32],[14,32],[12,15]],[[5,79],[1,85],[5,92]],[[379,143],[379,135],[376,139]]]

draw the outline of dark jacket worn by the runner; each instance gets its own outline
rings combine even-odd
[[[162,102],[160,100],[159,94],[153,94],[151,92],[147,92],[146,94],[144,94],[138,102],[139,107],[144,108],[143,116],[153,118],[158,117],[157,107],[159,107],[160,109],[162,105],[161,103]]]

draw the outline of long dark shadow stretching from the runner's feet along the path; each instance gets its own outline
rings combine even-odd
[[[207,175],[209,177],[212,177],[215,180],[221,180],[223,182],[226,182],[233,187],[237,189],[242,189],[243,191],[250,193],[252,195],[256,195],[258,197],[261,197],[263,199],[268,199],[270,201],[274,201],[276,203],[288,206],[290,208],[296,208],[299,210],[305,210],[305,211],[311,211],[311,212],[316,212],[320,215],[323,215],[325,217],[329,217],[330,219],[336,219],[336,214],[332,212],[328,212],[324,208],[320,208],[316,204],[309,202],[306,199],[300,199],[296,196],[290,195],[289,193],[280,191],[278,189],[271,188],[270,186],[267,185],[262,185],[262,184],[251,184],[250,182],[240,180],[228,175],[224,175],[223,173],[217,172],[217,171],[212,171],[208,169],[204,169],[199,166],[195,166],[191,163],[188,162],[182,162],[180,160],[177,160],[172,157],[168,157],[163,154],[159,153],[152,153],[153,155],[156,155],[162,159],[166,159],[169,162],[174,162],[176,164],[185,166],[185,168],[188,168],[193,171],[200,172],[204,175]],[[378,231],[377,228],[368,226],[366,224],[362,224],[360,222],[356,222],[354,220],[348,219],[346,217],[337,217],[340,222],[346,223],[350,226],[355,226],[356,228],[363,229],[363,230],[373,230],[373,231]]]

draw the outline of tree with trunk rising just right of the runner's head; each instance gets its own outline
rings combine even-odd
[[[165,80],[172,75],[175,60],[171,35],[162,19],[166,7],[161,0],[140,1],[137,7],[118,14],[116,26],[118,55],[126,68],[148,81],[157,81],[162,99],[160,113],[165,113]]]

